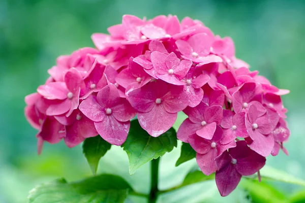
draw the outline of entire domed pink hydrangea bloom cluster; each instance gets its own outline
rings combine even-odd
[[[125,15],[110,35],[95,33],[96,48],[59,56],[50,78],[25,97],[25,115],[43,142],[74,147],[98,134],[122,145],[136,115],[151,136],[188,118],[177,138],[189,143],[205,175],[216,172],[221,195],[253,175],[266,156],[287,150],[286,109],[278,89],[235,57],[231,38],[202,22],[176,16]]]

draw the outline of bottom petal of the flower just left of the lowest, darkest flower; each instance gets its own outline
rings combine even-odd
[[[215,158],[217,157],[217,150],[211,149],[206,154],[196,154],[196,161],[202,173],[206,176],[211,175],[217,171]]]

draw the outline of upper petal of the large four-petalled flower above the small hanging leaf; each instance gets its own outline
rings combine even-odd
[[[104,108],[116,106],[120,101],[117,88],[113,84],[102,88],[97,95],[97,101]]]

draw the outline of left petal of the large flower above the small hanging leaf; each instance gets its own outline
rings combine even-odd
[[[100,122],[106,116],[105,108],[101,107],[96,96],[89,96],[79,105],[79,110],[90,120]]]

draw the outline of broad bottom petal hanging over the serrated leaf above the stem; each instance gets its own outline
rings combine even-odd
[[[148,113],[138,113],[138,120],[150,136],[158,137],[173,126],[177,113],[168,113],[162,105],[156,105]]]

